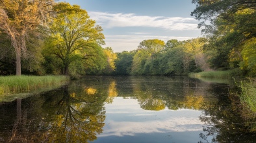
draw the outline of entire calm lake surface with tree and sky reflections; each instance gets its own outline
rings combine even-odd
[[[236,92],[232,79],[85,76],[0,102],[0,142],[256,142]]]

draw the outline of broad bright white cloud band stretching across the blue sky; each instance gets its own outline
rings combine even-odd
[[[89,12],[89,16],[103,28],[154,27],[166,30],[198,30],[198,21],[190,17],[136,16],[106,12]]]

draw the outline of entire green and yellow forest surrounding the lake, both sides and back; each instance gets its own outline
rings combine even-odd
[[[201,38],[145,39],[136,50],[103,48],[101,26],[79,5],[0,1],[0,75],[256,73],[256,1],[192,0]]]

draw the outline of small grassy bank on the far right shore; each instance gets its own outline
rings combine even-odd
[[[191,78],[233,78],[242,76],[242,71],[240,69],[231,69],[227,71],[205,71],[205,72],[198,72],[198,73],[190,73],[188,74]]]

